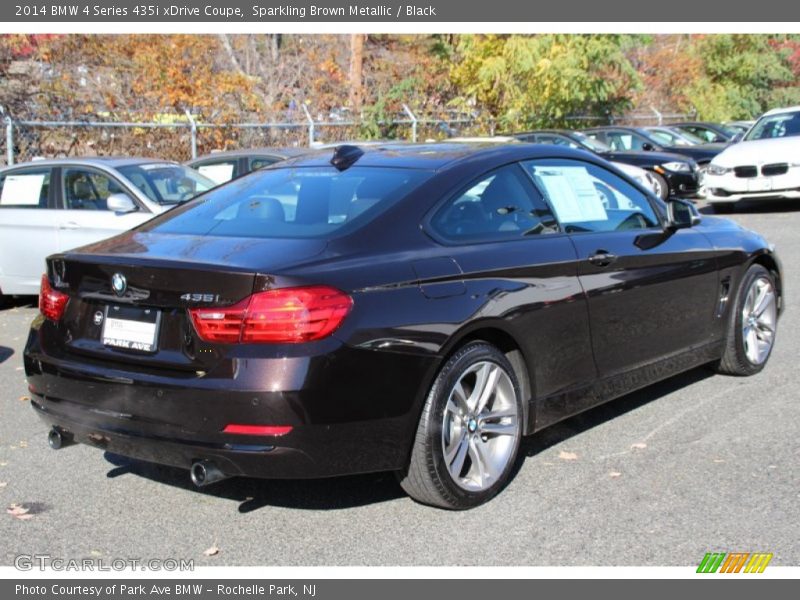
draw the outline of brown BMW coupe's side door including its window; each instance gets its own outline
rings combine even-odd
[[[720,286],[704,235],[665,231],[657,201],[599,164],[525,168],[575,245],[601,376],[714,340]]]

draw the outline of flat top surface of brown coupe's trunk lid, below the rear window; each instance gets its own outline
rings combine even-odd
[[[234,238],[134,230],[64,255],[81,262],[219,266],[263,273],[303,263],[326,247],[327,242],[319,239]]]

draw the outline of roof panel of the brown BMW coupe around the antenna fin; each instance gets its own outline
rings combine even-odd
[[[586,159],[587,152],[565,146],[526,144],[520,142],[437,142],[391,143],[361,148],[364,154],[354,163],[358,167],[393,167],[401,169],[439,170],[457,162],[485,157],[501,161],[523,160],[537,157],[564,157]],[[285,167],[327,167],[335,149],[318,150],[313,154],[289,159],[270,169]]]

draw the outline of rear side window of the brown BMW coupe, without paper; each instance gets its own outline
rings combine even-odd
[[[469,184],[436,211],[433,231],[455,242],[499,241],[553,233],[558,224],[518,164]]]

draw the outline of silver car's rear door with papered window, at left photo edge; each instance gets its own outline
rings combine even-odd
[[[0,175],[0,290],[38,294],[44,259],[58,250],[50,167]]]

